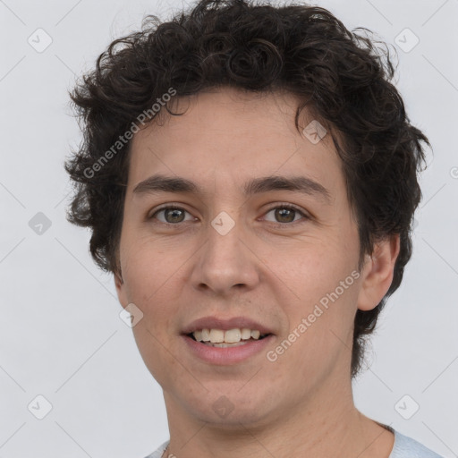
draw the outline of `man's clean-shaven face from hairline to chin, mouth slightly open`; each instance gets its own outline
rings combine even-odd
[[[185,114],[132,140],[116,278],[123,307],[143,313],[133,333],[169,416],[254,425],[312,397],[333,403],[350,383],[355,313],[384,292],[368,299],[367,272],[357,272],[358,230],[329,132],[310,141],[297,131],[287,93],[224,89],[178,102]],[[312,120],[302,112],[300,127]],[[148,181],[159,174],[196,189]],[[274,175],[301,189],[266,180]],[[188,335],[203,328],[216,341],[255,333],[218,347]]]

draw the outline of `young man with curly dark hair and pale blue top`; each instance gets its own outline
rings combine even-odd
[[[327,10],[203,0],[72,94],[69,219],[163,388],[150,458],[438,456],[352,399],[428,144],[392,77]]]

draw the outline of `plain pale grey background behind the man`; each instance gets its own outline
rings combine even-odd
[[[458,456],[458,1],[318,5],[396,48],[396,85],[434,148],[421,177],[413,256],[372,337],[355,402]],[[89,232],[65,220],[71,186],[63,165],[81,141],[68,106],[75,78],[114,38],[140,29],[145,14],[167,19],[176,7],[182,3],[0,0],[0,457],[142,458],[168,438],[161,389],[119,317],[113,278],[89,258]],[[47,36],[52,43],[38,52]]]

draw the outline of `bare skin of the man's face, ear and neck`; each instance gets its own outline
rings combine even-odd
[[[295,129],[293,95],[225,88],[174,101],[186,114],[164,116],[132,140],[115,275],[123,307],[143,313],[133,333],[164,390],[164,456],[387,458],[394,435],[355,408],[350,365],[354,316],[388,291],[399,237],[377,244],[358,280],[275,362],[266,352],[227,366],[199,360],[182,327],[209,315],[247,316],[273,330],[267,350],[275,350],[357,269],[360,243],[331,135],[314,145]],[[300,119],[303,128],[313,117],[304,110]],[[132,192],[157,173],[204,192]],[[270,174],[306,175],[327,188],[330,202],[297,191],[243,196],[244,182]],[[282,219],[276,208],[284,203],[310,217]],[[187,213],[148,219],[163,204]],[[210,225],[222,211],[235,223],[224,236]],[[213,408],[222,395],[233,407],[225,418]]]

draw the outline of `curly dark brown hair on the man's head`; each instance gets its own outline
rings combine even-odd
[[[83,124],[83,141],[65,161],[75,188],[67,219],[92,230],[89,249],[98,266],[121,272],[119,242],[131,141],[121,143],[120,135],[139,114],[170,88],[177,97],[223,86],[288,90],[298,100],[296,129],[302,108],[308,106],[321,123],[338,132],[332,138],[358,223],[360,267],[375,242],[400,235],[386,296],[375,309],[356,312],[355,377],[364,360],[365,337],[401,284],[411,258],[411,223],[421,199],[417,173],[421,162],[426,165],[420,142],[430,146],[411,125],[390,82],[394,66],[388,47],[368,38],[370,33],[347,30],[317,6],[201,0],[170,21],[161,23],[148,15],[140,31],[115,39],[99,55],[96,68],[70,92]],[[177,115],[168,105],[165,110]],[[110,148],[113,154],[106,160]]]

